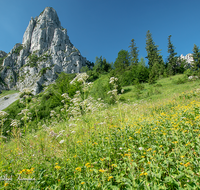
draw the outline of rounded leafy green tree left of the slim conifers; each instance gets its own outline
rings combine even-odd
[[[115,60],[114,67],[118,74],[122,74],[130,65],[130,55],[126,50],[120,50]]]

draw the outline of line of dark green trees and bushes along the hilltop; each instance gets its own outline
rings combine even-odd
[[[153,84],[157,79],[162,77],[182,74],[186,70],[192,71],[193,75],[199,75],[200,68],[200,50],[194,44],[193,48],[193,64],[188,64],[185,60],[180,59],[175,52],[175,47],[172,44],[172,36],[168,36],[168,58],[164,62],[158,45],[153,41],[151,32],[146,33],[146,52],[145,57],[148,64],[145,64],[145,59],[139,60],[139,50],[135,40],[132,39],[129,45],[129,51],[120,50],[114,63],[109,63],[105,58],[96,57],[94,67],[90,70],[87,67],[82,68],[82,72],[87,72],[90,76],[89,80],[94,81],[101,74],[109,73],[111,76],[119,78],[122,86],[132,85],[135,83],[148,82]]]

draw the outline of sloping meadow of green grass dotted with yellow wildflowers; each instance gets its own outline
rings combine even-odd
[[[25,135],[13,123],[12,139],[2,138],[0,144],[0,176],[12,180],[1,180],[0,186],[198,189],[199,84],[180,75],[124,87],[112,106],[103,108],[99,100],[68,120],[52,112],[46,123],[38,123],[39,130]],[[74,102],[71,111],[76,109]],[[24,130],[31,128],[31,123],[24,125]]]

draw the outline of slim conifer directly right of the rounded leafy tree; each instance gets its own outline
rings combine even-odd
[[[131,66],[137,66],[139,62],[139,59],[138,59],[139,50],[136,47],[134,39],[131,40],[131,44],[129,48],[130,48],[130,64]]]

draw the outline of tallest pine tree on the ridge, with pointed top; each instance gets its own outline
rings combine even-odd
[[[146,58],[148,59],[148,65],[150,69],[149,83],[153,83],[159,76],[163,75],[164,61],[162,56],[160,55],[160,50],[158,50],[158,46],[155,45],[155,42],[153,41],[152,34],[149,30],[146,34],[146,51]]]

